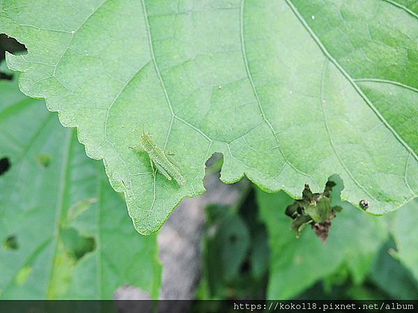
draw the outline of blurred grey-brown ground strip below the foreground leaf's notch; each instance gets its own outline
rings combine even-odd
[[[162,299],[194,298],[199,284],[201,235],[205,207],[208,204],[234,204],[247,182],[227,185],[219,174],[206,179],[207,192],[194,199],[185,199],[174,211],[158,235],[162,270]]]

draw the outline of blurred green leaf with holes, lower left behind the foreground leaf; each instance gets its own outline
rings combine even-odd
[[[122,284],[153,297],[155,236],[131,227],[102,164],[41,100],[0,81],[0,298],[111,298]]]

